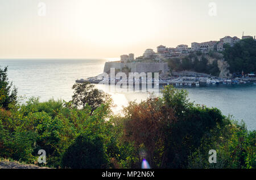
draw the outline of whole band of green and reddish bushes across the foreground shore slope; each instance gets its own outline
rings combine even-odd
[[[36,164],[44,149],[55,168],[141,168],[143,158],[151,168],[256,168],[256,131],[189,102],[184,90],[167,86],[123,116],[112,114],[112,101],[88,104],[30,98],[1,108],[0,156]]]

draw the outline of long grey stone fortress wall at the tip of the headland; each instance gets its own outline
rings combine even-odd
[[[122,68],[129,68],[130,72],[162,72],[168,73],[168,63],[121,63],[121,62],[106,62],[104,72],[109,73],[110,68],[115,70],[122,70]]]

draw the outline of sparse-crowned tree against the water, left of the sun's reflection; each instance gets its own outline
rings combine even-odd
[[[89,82],[76,83],[73,85],[74,95],[72,101],[76,106],[85,108],[86,104],[91,108],[91,114],[102,104],[111,104],[112,98],[107,93],[95,88],[95,85]]]

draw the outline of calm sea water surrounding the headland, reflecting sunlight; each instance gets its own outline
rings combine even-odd
[[[76,79],[101,74],[106,59],[0,59],[0,66],[9,66],[9,80],[18,87],[18,94],[71,100]],[[98,88],[104,89],[102,85]],[[191,101],[216,107],[223,114],[243,119],[250,130],[256,130],[256,85],[219,85],[185,88]],[[112,93],[116,113],[131,100],[145,100],[146,93]]]

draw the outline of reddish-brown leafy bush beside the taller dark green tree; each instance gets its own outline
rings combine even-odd
[[[164,162],[164,127],[175,122],[174,110],[168,108],[160,99],[148,99],[140,104],[130,102],[124,109],[124,138],[134,142],[138,151],[146,152],[146,158],[152,168],[161,168]],[[142,158],[142,157],[141,157]]]

